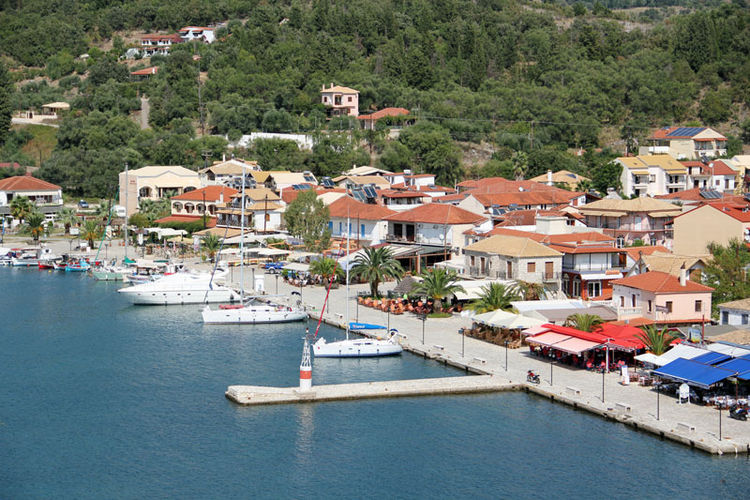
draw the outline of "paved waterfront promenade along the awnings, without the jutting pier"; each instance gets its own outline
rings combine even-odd
[[[262,271],[256,269],[245,273],[246,289],[251,287],[254,273],[260,272]],[[299,288],[284,283],[282,278],[277,279],[276,276],[265,275],[267,293],[276,293],[277,283],[278,292],[281,294],[288,296],[292,290],[300,291]],[[395,283],[381,285],[381,293],[394,286]],[[385,312],[364,306],[357,307],[354,297],[357,292],[368,290],[368,285],[353,285],[350,288],[351,297],[348,302],[351,321],[382,325],[389,322]],[[322,286],[307,286],[301,289],[301,294],[303,303],[311,311],[311,315],[317,319],[325,297],[325,289]],[[343,326],[346,321],[346,304],[346,287],[331,290],[329,307],[323,315],[324,320]],[[310,325],[311,331],[314,331],[314,322]],[[434,358],[438,362],[452,364],[475,373],[493,375],[498,377],[503,384],[522,385],[543,397],[570,404],[710,453],[747,453],[750,449],[750,422],[730,419],[726,411],[719,412],[712,407],[693,404],[679,405],[674,395],[657,395],[651,387],[642,387],[637,384],[621,385],[618,373],[602,375],[567,366],[552,365],[545,360],[531,356],[526,347],[506,350],[504,346],[470,337],[462,339],[458,330],[461,327],[470,326],[471,318],[457,315],[450,318],[427,318],[424,323],[423,343],[421,320],[408,313],[398,316],[390,315],[390,327],[398,329],[404,348],[418,355]],[[313,366],[313,374],[314,370]],[[538,386],[527,384],[527,370],[534,370],[538,373],[542,379],[541,384]],[[313,382],[314,379],[313,375]],[[249,380],[233,382],[252,383]],[[604,389],[603,401],[602,387]],[[720,417],[721,440],[719,440]]]

